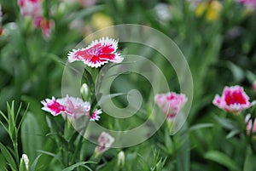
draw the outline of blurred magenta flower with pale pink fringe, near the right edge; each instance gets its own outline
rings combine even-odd
[[[256,101],[249,102],[249,97],[243,91],[243,88],[240,86],[233,87],[224,87],[222,96],[215,95],[214,100],[212,101],[214,105],[217,105],[218,108],[223,109],[224,111],[230,111],[232,113],[238,113],[243,111],[252,105],[255,105]]]

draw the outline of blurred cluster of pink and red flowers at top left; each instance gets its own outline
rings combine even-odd
[[[49,37],[49,32],[54,27],[54,21],[47,20],[43,16],[42,1],[40,0],[19,0],[20,12],[24,17],[31,17],[34,26],[41,28],[44,37]]]

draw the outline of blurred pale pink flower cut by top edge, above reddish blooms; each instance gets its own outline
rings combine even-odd
[[[40,0],[18,0],[20,12],[23,16],[41,16],[43,9]]]

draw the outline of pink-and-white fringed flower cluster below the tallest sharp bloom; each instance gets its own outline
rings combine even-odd
[[[57,100],[55,97],[52,97],[51,100],[46,99],[41,101],[41,103],[44,105],[42,109],[48,111],[53,116],[60,115],[61,113],[73,116],[74,118],[90,116],[90,103],[80,98],[69,97],[67,95],[67,97]],[[93,111],[90,116],[90,121],[98,121],[101,113],[101,109]]]

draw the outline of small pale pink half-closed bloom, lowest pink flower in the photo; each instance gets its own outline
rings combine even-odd
[[[114,138],[110,134],[102,132],[98,138],[98,145],[95,148],[96,155],[99,155],[104,151],[108,151],[113,142]]]

